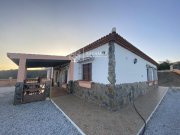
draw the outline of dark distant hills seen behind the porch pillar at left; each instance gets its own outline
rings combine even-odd
[[[2,71],[0,71],[0,79],[9,79],[9,77],[16,79],[17,72],[18,72],[17,69],[2,70]],[[27,78],[36,78],[36,77],[46,78],[46,75],[47,75],[46,70],[28,70],[27,71]]]

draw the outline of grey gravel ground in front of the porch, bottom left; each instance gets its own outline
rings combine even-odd
[[[13,87],[0,88],[0,135],[79,135],[51,101],[13,106]]]

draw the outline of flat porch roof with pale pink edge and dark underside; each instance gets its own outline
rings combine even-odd
[[[66,56],[40,55],[40,54],[23,54],[23,53],[7,53],[7,56],[19,66],[20,59],[26,59],[27,68],[36,67],[55,67],[62,64],[70,63],[70,59]]]

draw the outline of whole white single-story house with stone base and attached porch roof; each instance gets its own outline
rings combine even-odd
[[[119,108],[129,102],[132,94],[143,95],[158,83],[158,63],[114,28],[68,56],[8,53],[8,57],[19,65],[17,83],[23,85],[28,67],[50,67],[47,78],[53,86],[62,86],[80,98],[108,108]]]

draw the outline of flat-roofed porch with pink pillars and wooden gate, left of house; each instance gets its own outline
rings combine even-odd
[[[44,100],[49,97],[51,79],[47,75],[47,81],[44,84],[39,82],[27,84],[26,72],[27,68],[42,68],[42,67],[57,67],[63,64],[69,64],[69,80],[73,80],[73,62],[66,56],[40,55],[40,54],[22,54],[22,53],[7,53],[7,56],[19,66],[17,83],[15,86],[14,104],[26,102],[25,95],[30,94],[27,98],[28,102],[36,100]],[[26,90],[28,89],[28,90]],[[35,90],[36,89],[36,90]],[[40,94],[43,90],[43,94]],[[39,93],[37,98],[37,92]],[[34,92],[34,93],[33,93]],[[36,93],[35,93],[36,92]]]

